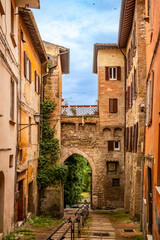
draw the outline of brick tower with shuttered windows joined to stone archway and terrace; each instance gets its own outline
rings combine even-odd
[[[98,106],[70,106],[70,116],[63,106],[61,161],[75,153],[85,157],[92,168],[92,208],[113,209],[123,207],[124,195],[124,57],[116,44],[95,44],[93,64]]]

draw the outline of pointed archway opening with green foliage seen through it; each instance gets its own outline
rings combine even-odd
[[[92,169],[88,160],[80,154],[72,154],[64,164],[68,167],[64,184],[64,208],[77,206],[84,200],[91,203]]]

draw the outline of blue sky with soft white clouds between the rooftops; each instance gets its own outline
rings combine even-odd
[[[33,12],[42,39],[70,49],[63,98],[70,104],[96,104],[93,45],[117,42],[121,0],[40,0],[40,5]]]

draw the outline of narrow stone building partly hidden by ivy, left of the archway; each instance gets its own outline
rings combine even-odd
[[[69,49],[44,41],[47,57],[48,70],[43,76],[43,100],[52,100],[56,103],[51,114],[51,127],[55,126],[54,137],[59,140],[61,151],[61,105],[62,105],[62,75],[69,73]],[[44,190],[45,198],[41,198],[39,211],[50,216],[63,216],[63,186],[51,185]]]

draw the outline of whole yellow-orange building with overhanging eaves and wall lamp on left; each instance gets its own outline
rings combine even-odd
[[[19,225],[30,213],[37,213],[37,167],[40,125],[35,115],[40,114],[42,75],[47,55],[33,13],[19,8],[19,63],[18,84],[18,159],[16,182],[16,222]]]

